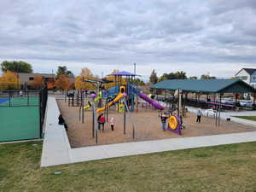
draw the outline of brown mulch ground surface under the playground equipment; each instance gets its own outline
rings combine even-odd
[[[68,107],[64,100],[57,100],[57,102],[68,125],[67,135],[72,148],[96,145],[96,138],[92,137],[91,110],[84,112],[84,124],[82,124],[82,122],[79,122],[79,107]],[[161,130],[157,110],[139,108],[138,113],[133,112],[126,115],[126,134],[124,135],[124,113],[117,113],[113,107],[108,114],[108,119],[110,117],[115,119],[114,131],[111,131],[110,125],[106,123],[104,131],[98,131],[97,145],[256,131],[255,127],[224,120],[220,121],[220,126],[215,126],[214,119],[210,117],[202,117],[199,124],[195,122],[194,113],[187,113],[187,117],[183,118],[185,130],[183,130],[182,136],[178,136],[172,131]],[[132,138],[131,120],[136,127],[135,140]]]

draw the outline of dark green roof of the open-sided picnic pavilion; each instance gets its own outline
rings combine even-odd
[[[177,90],[205,93],[246,93],[256,92],[241,79],[167,79],[152,85],[152,89]]]

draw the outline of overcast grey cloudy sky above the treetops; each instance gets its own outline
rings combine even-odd
[[[1,0],[0,61],[51,73],[113,68],[146,79],[183,70],[233,76],[256,67],[255,0]]]

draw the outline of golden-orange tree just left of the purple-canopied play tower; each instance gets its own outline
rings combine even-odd
[[[84,67],[80,75],[75,79],[76,90],[96,90],[94,84],[84,81],[86,79],[94,80],[96,77],[94,77],[89,68]]]

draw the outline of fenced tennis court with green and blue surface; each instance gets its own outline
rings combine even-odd
[[[30,92],[26,96],[15,96],[17,94],[12,91],[0,96],[0,142],[41,137],[42,115],[38,92],[37,95]]]

